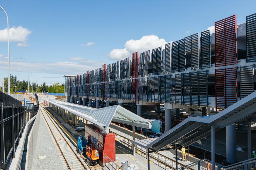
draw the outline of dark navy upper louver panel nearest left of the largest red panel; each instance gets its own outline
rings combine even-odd
[[[201,32],[201,58],[200,67],[210,68],[211,67],[211,39],[210,30]]]

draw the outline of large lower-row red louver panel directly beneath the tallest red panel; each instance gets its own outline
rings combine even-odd
[[[215,69],[216,111],[221,111],[237,102],[237,67]]]

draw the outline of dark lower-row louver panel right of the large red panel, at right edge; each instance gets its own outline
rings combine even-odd
[[[254,65],[240,67],[240,98],[254,92]]]

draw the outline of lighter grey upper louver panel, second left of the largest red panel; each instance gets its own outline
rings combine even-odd
[[[199,69],[199,33],[191,35],[191,69]]]

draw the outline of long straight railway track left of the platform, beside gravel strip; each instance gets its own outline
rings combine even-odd
[[[51,135],[59,149],[64,163],[67,165],[68,170],[89,170],[90,168],[84,162],[83,158],[76,152],[76,148],[68,140],[61,129],[52,120],[48,112],[40,105],[40,111],[45,119],[45,122],[50,129]]]

